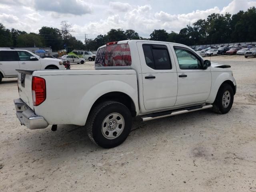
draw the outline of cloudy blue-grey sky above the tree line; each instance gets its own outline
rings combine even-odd
[[[212,13],[236,14],[256,6],[256,0],[0,0],[0,23],[38,33],[42,26],[72,25],[72,35],[84,41],[110,29],[133,29],[149,38],[154,29],[179,32]]]

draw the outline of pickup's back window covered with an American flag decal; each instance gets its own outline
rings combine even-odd
[[[130,66],[132,64],[128,44],[117,44],[103,47],[97,51],[95,66]]]

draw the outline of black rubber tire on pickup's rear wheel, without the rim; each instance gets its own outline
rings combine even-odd
[[[119,136],[117,136],[116,138],[109,139],[106,138],[108,128],[104,136],[103,123],[104,121],[106,121],[106,119],[108,120],[107,117],[111,116],[111,114],[113,113],[117,113],[122,116],[124,126],[121,126],[122,132],[120,132]],[[109,127],[109,124],[110,123],[106,124],[105,127]],[[130,113],[130,110],[124,104],[116,101],[105,101],[98,104],[96,107],[92,109],[86,121],[86,130],[90,140],[92,140],[92,142],[103,148],[112,148],[122,144],[122,142],[124,142],[128,137],[131,127],[132,115]],[[114,130],[118,128],[119,126],[116,126]],[[112,135],[114,135],[114,130]]]

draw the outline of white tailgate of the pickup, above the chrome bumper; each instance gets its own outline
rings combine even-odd
[[[18,89],[20,98],[33,110],[34,105],[32,99],[32,77],[34,70],[16,71],[18,71]]]

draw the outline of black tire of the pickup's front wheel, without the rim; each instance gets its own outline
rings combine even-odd
[[[228,96],[226,97],[226,104],[229,102],[228,105],[224,106],[224,104],[222,103],[222,98],[224,97],[224,94],[226,95],[227,92],[229,92]],[[227,112],[230,111],[230,109],[232,108],[233,105],[233,101],[234,101],[234,91],[232,89],[232,87],[230,86],[230,84],[222,84],[222,86],[220,86],[217,96],[215,98],[214,103],[212,104],[212,110],[218,114],[225,114]]]

